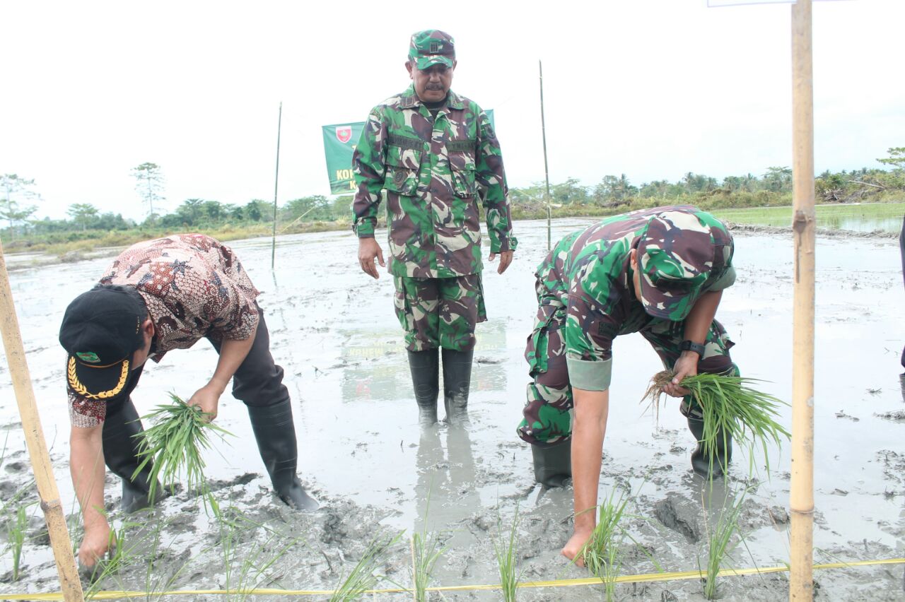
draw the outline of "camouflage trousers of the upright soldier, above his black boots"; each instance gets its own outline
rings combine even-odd
[[[474,326],[487,320],[481,274],[452,278],[394,276],[393,284],[393,304],[405,330],[405,349],[474,348]]]

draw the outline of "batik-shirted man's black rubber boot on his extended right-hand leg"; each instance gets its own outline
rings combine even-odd
[[[272,406],[247,406],[248,417],[252,420],[252,431],[258,442],[258,451],[271,475],[273,491],[296,510],[317,510],[319,503],[305,492],[295,474],[299,461],[299,450],[292,422],[291,400],[284,400]]]

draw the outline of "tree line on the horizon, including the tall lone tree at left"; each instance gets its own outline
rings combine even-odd
[[[905,146],[893,147],[878,159],[890,168],[862,167],[852,171],[824,171],[814,180],[815,200],[833,202],[905,201]],[[172,212],[158,213],[166,202],[165,181],[159,165],[144,163],[131,170],[136,192],[147,206],[144,221],[123,218],[120,213],[100,212],[87,202],[72,203],[69,219],[33,219],[40,202],[34,180],[17,174],[0,175],[0,228],[10,240],[52,238],[58,241],[92,238],[99,231],[154,229],[169,231],[206,230],[233,226],[242,228],[273,221],[273,203],[252,199],[245,204],[186,199]],[[547,186],[510,188],[515,217],[542,217],[547,212]],[[329,198],[312,195],[292,199],[277,209],[277,222],[285,227],[312,221],[350,221],[351,195]],[[768,167],[766,173],[730,175],[722,180],[689,172],[679,181],[654,180],[633,184],[625,174],[605,175],[586,186],[575,178],[549,186],[549,202],[559,215],[597,215],[653,207],[662,204],[696,204],[701,209],[762,207],[791,204],[792,170]]]

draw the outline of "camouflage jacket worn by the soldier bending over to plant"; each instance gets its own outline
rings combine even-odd
[[[629,268],[629,253],[654,214],[663,207],[624,213],[578,230],[560,240],[547,259],[538,266],[538,324],[532,336],[539,340],[541,329],[563,327],[569,373],[584,370],[609,374],[613,339],[635,333],[652,320],[635,297]],[[713,243],[720,249],[702,292],[718,291],[735,282],[732,267],[733,241],[725,224],[691,205],[669,207],[692,213],[710,228]],[[679,237],[676,240],[689,240]],[[542,314],[542,315],[541,315]],[[535,347],[538,349],[538,346]],[[529,363],[543,370],[544,358],[532,356]],[[586,362],[596,362],[590,366]],[[605,362],[601,364],[599,362]],[[581,365],[584,364],[584,365]],[[608,381],[608,377],[606,379]]]

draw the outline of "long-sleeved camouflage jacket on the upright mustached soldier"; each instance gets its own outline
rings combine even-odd
[[[371,110],[352,158],[359,238],[373,238],[386,189],[390,272],[457,277],[481,271],[478,199],[491,252],[514,250],[500,143],[472,100],[449,92],[436,118],[413,87]]]

